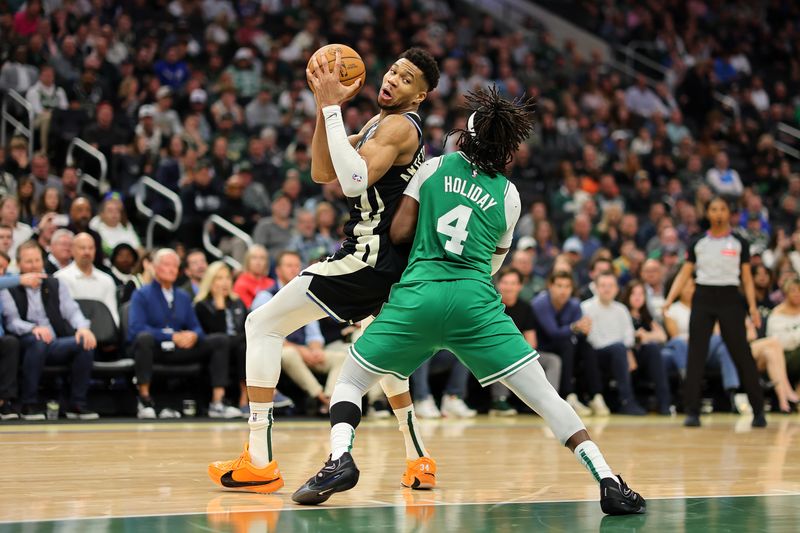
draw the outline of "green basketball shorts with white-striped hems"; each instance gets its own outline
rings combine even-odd
[[[366,370],[405,379],[443,349],[484,387],[539,357],[494,287],[477,280],[396,284],[350,354]]]

